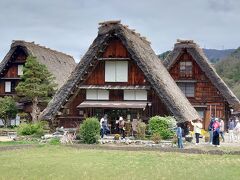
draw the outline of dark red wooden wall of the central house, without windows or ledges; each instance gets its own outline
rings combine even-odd
[[[105,49],[101,58],[127,58],[128,60],[128,82],[105,82],[105,61],[98,60],[97,64],[93,70],[88,71],[88,77],[81,83],[82,85],[149,85],[144,73],[140,70],[137,64],[130,59],[127,49],[119,40],[112,40],[109,46]],[[126,59],[122,59],[126,60]],[[124,90],[109,90],[109,101],[123,101]],[[59,123],[61,125],[71,126],[69,123],[77,123],[81,121],[79,116],[79,109],[77,106],[86,100],[86,90],[79,90],[76,95],[73,95],[69,101],[66,103],[65,110],[62,109],[61,112],[69,109],[68,114],[62,114],[58,117]],[[154,90],[148,90],[148,101],[152,102],[151,106],[147,106],[146,109],[142,110],[142,115],[144,120],[152,115],[169,115],[168,110],[165,105],[161,102],[159,97],[154,93]],[[92,113],[91,108],[84,108],[85,112]],[[84,113],[85,113],[84,112]],[[86,113],[87,115],[87,113]],[[147,118],[146,118],[147,117]],[[69,120],[69,123],[68,123]]]

